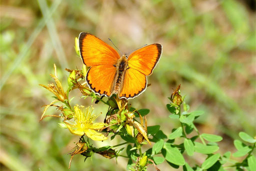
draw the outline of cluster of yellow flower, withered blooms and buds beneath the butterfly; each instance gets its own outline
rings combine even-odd
[[[141,145],[146,143],[144,142],[144,140],[146,140],[148,144],[151,144],[148,139],[145,117],[145,114],[147,114],[148,112],[144,113],[143,110],[136,110],[135,108],[132,108],[127,104],[127,100],[119,99],[114,95],[108,98],[107,101],[99,98],[86,86],[85,81],[81,82],[84,79],[86,67],[83,67],[82,70],[66,70],[70,73],[67,78],[67,90],[64,90],[61,81],[57,77],[57,70],[55,64],[54,74],[50,74],[55,83],[50,83],[48,84],[48,86],[39,84],[40,86],[52,92],[55,98],[49,104],[44,105],[45,108],[43,110],[40,120],[48,116],[60,117],[62,119],[62,122],[59,123],[60,127],[67,128],[70,133],[80,136],[79,141],[75,142],[75,150],[70,153],[71,158],[69,162],[69,167],[73,156],[76,154],[81,154],[86,158],[92,156],[93,153],[100,154],[106,158],[112,158],[121,155],[120,152],[122,149],[116,150],[112,149],[109,146],[99,148],[93,147],[89,143],[89,139],[102,141],[106,140],[107,136],[109,135],[113,134],[113,136],[111,136],[111,139],[115,135],[120,135],[121,138],[123,138],[124,140],[128,138],[131,142],[136,144],[136,149],[138,149],[139,151]],[[92,102],[93,100],[96,100],[95,103],[98,103],[100,101],[109,106],[104,122],[95,122],[99,114],[96,115],[93,113],[92,106],[85,107],[78,104],[75,104],[74,106],[70,105],[68,94],[73,89],[79,89],[81,92],[81,97],[83,98],[90,96],[92,98]],[[50,106],[56,107],[60,111],[60,114],[45,115],[46,110]],[[141,114],[144,116],[144,119]],[[140,123],[136,121],[135,117],[140,118]],[[87,137],[87,140],[84,139],[84,136]],[[140,162],[138,162],[136,165],[140,165],[140,167],[141,165],[143,165],[143,168],[146,168],[146,163],[149,160],[145,158],[146,156],[137,156],[137,159]]]

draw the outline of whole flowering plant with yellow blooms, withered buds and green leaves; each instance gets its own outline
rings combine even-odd
[[[166,135],[160,130],[160,125],[147,126],[146,115],[149,113],[149,109],[133,108],[128,105],[126,99],[119,99],[116,95],[108,97],[106,101],[97,96],[83,81],[86,69],[85,65],[82,70],[66,69],[69,72],[66,91],[57,77],[55,64],[54,75],[50,74],[55,85],[53,83],[48,86],[40,84],[55,95],[55,99],[45,105],[40,120],[48,116],[60,117],[62,120],[59,123],[60,127],[67,128],[70,133],[80,136],[79,141],[75,142],[75,150],[70,152],[69,167],[74,155],[81,154],[86,159],[93,153],[97,153],[106,158],[128,158],[128,170],[146,170],[149,165],[160,170],[158,165],[164,161],[167,161],[170,167],[182,166],[183,170],[224,170],[230,167],[236,170],[256,170],[256,158],[253,155],[256,144],[255,137],[240,132],[239,136],[246,144],[240,140],[234,140],[237,151],[232,156],[245,156],[241,162],[230,159],[230,151],[220,154],[217,142],[221,141],[222,137],[199,133],[193,121],[202,115],[203,111],[189,111],[189,105],[185,103],[184,96],[180,94],[180,84],[170,95],[170,101],[166,104],[170,112],[169,119],[177,119],[180,126],[173,128]],[[98,115],[94,114],[91,106],[84,107],[76,104],[72,107],[70,105],[68,94],[73,89],[79,89],[81,96],[90,97],[92,102],[96,100],[95,103],[102,102],[108,106],[104,121],[95,122]],[[57,102],[60,102],[61,105],[56,105]],[[50,106],[56,107],[60,114],[45,115]],[[192,132],[196,135],[191,136]],[[124,142],[114,146],[95,147],[89,140],[102,141],[109,137],[112,140],[118,136]],[[175,141],[176,139],[179,140]],[[142,151],[141,147],[145,144],[149,145],[149,149]],[[121,145],[126,146],[117,149]],[[122,151],[125,148],[126,154],[123,154]],[[185,158],[193,156],[195,153],[205,154],[205,160],[191,167],[187,162],[188,159]]]

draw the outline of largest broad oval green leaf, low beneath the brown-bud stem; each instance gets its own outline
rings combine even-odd
[[[165,159],[176,165],[184,165],[185,160],[178,148],[171,146],[170,143],[164,143],[163,148],[166,150]]]

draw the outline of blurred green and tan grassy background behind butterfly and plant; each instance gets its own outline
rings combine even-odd
[[[161,43],[162,57],[147,77],[151,86],[129,103],[149,108],[148,125],[159,124],[169,134],[179,123],[168,118],[165,104],[180,83],[190,110],[205,111],[196,119],[199,131],[223,136],[221,154],[234,152],[232,141],[239,131],[255,136],[253,5],[254,0],[1,0],[0,169],[67,170],[68,152],[79,137],[61,129],[57,118],[38,123],[41,106],[53,100],[38,84],[53,82],[53,63],[65,85],[64,68],[81,69],[74,50],[81,31],[109,44],[110,37],[123,52]],[[78,91],[71,96],[77,96],[72,105],[91,105]],[[102,104],[93,106],[96,112],[107,110]],[[47,112],[56,113],[54,108]],[[205,157],[196,154],[186,161],[201,164]],[[97,154],[85,163],[83,159],[74,156],[70,170],[125,170],[127,163]],[[158,167],[171,169],[166,162]]]

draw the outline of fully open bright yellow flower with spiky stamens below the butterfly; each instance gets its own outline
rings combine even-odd
[[[92,140],[105,140],[105,137],[102,133],[97,132],[100,128],[104,127],[103,122],[92,123],[97,116],[92,114],[92,107],[84,108],[84,106],[74,106],[73,120],[64,121],[67,128],[72,134],[75,135],[86,135]]]

